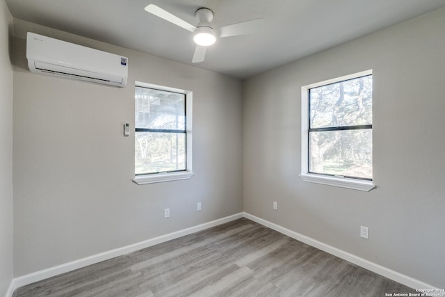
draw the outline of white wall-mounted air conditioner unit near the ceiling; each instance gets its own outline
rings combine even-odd
[[[28,32],[26,58],[31,72],[123,87],[128,59],[97,49]]]

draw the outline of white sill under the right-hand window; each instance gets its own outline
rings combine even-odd
[[[328,186],[339,186],[341,188],[352,188],[353,190],[369,192],[375,185],[371,181],[361,179],[350,179],[346,177],[328,177],[323,175],[300,175],[305,182],[314,182],[316,184],[326,184]]]

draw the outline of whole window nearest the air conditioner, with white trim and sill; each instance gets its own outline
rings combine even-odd
[[[137,184],[188,179],[191,172],[191,93],[137,83],[135,178]]]

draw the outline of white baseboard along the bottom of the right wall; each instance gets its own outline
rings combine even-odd
[[[244,217],[248,218],[249,220],[253,220],[256,223],[269,227],[270,229],[273,229],[277,232],[285,234],[293,239],[302,241],[303,243],[306,243],[309,246],[313,246],[314,248],[318,248],[319,250],[323,250],[325,252],[330,253],[331,255],[344,259],[348,262],[351,262],[363,268],[366,268],[369,271],[373,271],[382,276],[385,276],[385,278],[389,278],[390,280],[394,280],[396,282],[400,282],[401,284],[405,284],[405,286],[410,287],[412,289],[437,289],[434,286],[427,284],[426,282],[421,282],[420,280],[416,280],[415,278],[411,278],[410,276],[398,273],[397,271],[391,270],[379,264],[375,264],[361,257],[357,257],[356,255],[350,254],[349,252],[345,252],[344,250],[340,250],[339,248],[334,248],[333,246],[330,246],[326,243],[323,243],[316,239],[312,239],[311,237],[305,236],[298,232],[289,230],[275,223],[271,223],[268,220],[264,220],[257,216],[253,216],[252,214],[248,214],[245,212]]]

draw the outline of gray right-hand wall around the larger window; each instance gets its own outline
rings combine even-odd
[[[444,28],[436,10],[245,81],[244,210],[445,287]],[[368,69],[378,188],[302,182],[301,86]]]

